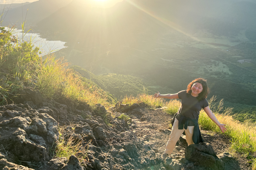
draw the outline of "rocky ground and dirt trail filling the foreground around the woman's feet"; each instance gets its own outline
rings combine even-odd
[[[187,146],[185,136],[163,159],[173,116],[143,103],[107,111],[98,104],[74,109],[68,102],[42,99],[27,89],[22,104],[0,106],[0,169],[3,170],[250,170],[240,155],[229,154],[230,139],[201,129],[203,143]],[[36,103],[36,104],[35,104]],[[121,111],[123,113],[121,113]],[[110,116],[110,114],[115,115]],[[128,120],[120,115],[129,116]],[[108,115],[108,124],[104,121]],[[58,127],[64,131],[61,133]],[[57,142],[81,142],[81,152],[58,157]]]

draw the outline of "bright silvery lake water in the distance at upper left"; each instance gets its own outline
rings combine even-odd
[[[8,27],[5,27],[6,30],[9,30]],[[17,29],[11,29],[10,32],[14,36],[17,37],[17,39],[22,42],[32,42],[34,44],[34,47],[39,47],[40,51],[42,52],[41,55],[45,55],[51,52],[58,51],[62,48],[66,48],[67,46],[64,46],[66,42],[61,42],[61,41],[47,41],[46,39],[40,38],[39,34],[36,33],[27,33],[23,36],[22,38],[22,30],[17,30]]]

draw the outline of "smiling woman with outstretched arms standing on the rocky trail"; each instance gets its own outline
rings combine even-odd
[[[154,98],[181,99],[181,106],[172,121],[172,132],[165,147],[164,159],[172,153],[176,142],[184,131],[188,145],[203,142],[198,126],[199,113],[202,108],[223,133],[227,130],[226,125],[221,124],[210,110],[206,100],[208,92],[206,80],[198,78],[188,84],[187,90],[176,94],[161,95],[159,92],[154,94]]]

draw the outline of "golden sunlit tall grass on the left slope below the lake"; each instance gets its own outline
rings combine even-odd
[[[47,56],[38,66],[37,85],[45,97],[67,98],[73,101],[74,105],[80,102],[109,105],[108,96],[103,90],[85,84],[73,69],[69,69],[69,63],[63,62],[63,59]]]

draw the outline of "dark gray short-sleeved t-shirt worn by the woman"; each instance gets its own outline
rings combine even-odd
[[[196,97],[187,94],[186,90],[180,91],[178,96],[181,99],[178,113],[189,119],[198,119],[201,109],[209,106],[206,99],[198,101]]]

